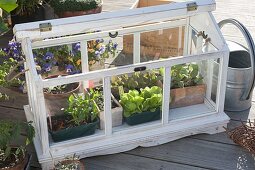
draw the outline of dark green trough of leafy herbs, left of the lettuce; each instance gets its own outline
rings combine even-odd
[[[66,115],[53,116],[52,120],[63,120],[66,119]],[[49,130],[51,137],[54,142],[61,142],[65,140],[75,139],[83,136],[89,136],[95,133],[99,124],[99,118],[97,118],[94,122],[83,124],[80,126],[69,127],[66,129],[61,129],[58,131]]]

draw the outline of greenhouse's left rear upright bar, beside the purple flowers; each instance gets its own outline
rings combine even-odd
[[[88,46],[87,41],[81,41],[81,67],[82,72],[86,73],[89,72],[89,59],[88,59]],[[82,82],[83,89],[86,89],[89,87],[89,81],[83,81]]]

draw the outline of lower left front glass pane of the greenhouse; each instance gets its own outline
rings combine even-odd
[[[47,79],[58,76],[50,76]],[[103,135],[99,129],[104,103],[95,81],[75,82],[44,88],[50,142]]]

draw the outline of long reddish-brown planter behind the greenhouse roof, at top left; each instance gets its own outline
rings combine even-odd
[[[95,9],[87,10],[87,11],[65,11],[58,14],[59,18],[66,18],[66,17],[74,17],[74,16],[81,16],[81,15],[89,15],[89,14],[96,14],[102,11],[102,5],[98,6]]]

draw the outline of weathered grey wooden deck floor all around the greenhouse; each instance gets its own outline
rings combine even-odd
[[[104,0],[104,11],[129,8],[135,0]],[[236,18],[247,26],[255,38],[254,0],[216,0],[214,13],[217,21]],[[227,37],[240,37],[234,30],[226,31]],[[255,94],[253,95],[255,97]],[[231,117],[229,127],[235,127],[241,120],[255,119],[255,99],[251,109],[228,113]],[[1,119],[25,120],[24,111],[17,104],[7,106],[0,103]],[[31,169],[40,169],[34,148]],[[254,170],[254,157],[234,144],[225,133],[216,135],[195,135],[150,148],[136,148],[129,152],[83,159],[86,170],[169,170],[169,169],[243,169]]]

